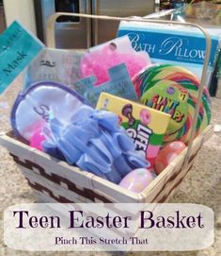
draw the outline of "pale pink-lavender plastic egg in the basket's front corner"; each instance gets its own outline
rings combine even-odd
[[[135,193],[143,191],[152,181],[153,177],[149,170],[144,168],[134,169],[120,182],[119,186]]]

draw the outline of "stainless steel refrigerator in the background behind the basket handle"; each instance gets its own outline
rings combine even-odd
[[[47,20],[55,12],[110,16],[145,16],[154,11],[155,0],[35,0],[39,39],[45,42]],[[55,24],[57,48],[87,48],[116,37],[118,22],[62,16]]]

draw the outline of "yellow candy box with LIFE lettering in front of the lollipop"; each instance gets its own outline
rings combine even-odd
[[[136,150],[144,152],[152,167],[162,145],[170,115],[106,93],[100,95],[97,109],[118,114],[121,126],[133,138]]]

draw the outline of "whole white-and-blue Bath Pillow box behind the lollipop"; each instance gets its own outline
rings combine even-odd
[[[209,82],[219,46],[220,30],[207,30],[212,40]],[[118,28],[118,37],[124,35],[129,36],[136,51],[147,51],[153,63],[180,65],[201,77],[206,44],[202,32],[197,28],[123,21]]]

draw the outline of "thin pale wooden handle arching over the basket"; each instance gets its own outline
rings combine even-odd
[[[46,31],[46,39],[49,47],[55,48],[55,21],[59,16],[73,16],[73,17],[82,17],[87,19],[119,21],[119,22],[134,21],[134,22],[142,22],[142,23],[147,22],[147,23],[166,24],[166,25],[169,24],[169,25],[192,26],[192,27],[197,27],[197,29],[199,29],[203,33],[206,41],[206,52],[205,52],[205,59],[203,62],[202,76],[201,76],[199,90],[197,94],[197,105],[196,105],[196,110],[194,114],[193,127],[191,128],[190,140],[188,143],[187,152],[186,152],[183,166],[182,166],[182,168],[186,168],[191,157],[192,146],[193,146],[194,138],[196,135],[197,116],[198,116],[199,107],[202,100],[203,87],[204,87],[204,84],[206,84],[207,69],[208,69],[208,64],[209,64],[210,55],[211,55],[211,37],[209,33],[202,26],[198,26],[197,24],[193,24],[193,23],[181,23],[181,22],[175,22],[175,21],[164,21],[164,20],[155,20],[155,19],[153,20],[148,18],[136,19],[133,17],[122,18],[122,17],[112,17],[112,16],[105,16],[105,15],[89,15],[89,14],[81,14],[81,13],[55,12],[55,14],[53,14],[48,20],[48,26]]]

